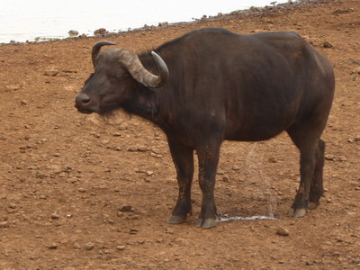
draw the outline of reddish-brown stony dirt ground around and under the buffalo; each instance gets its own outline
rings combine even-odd
[[[326,193],[304,218],[287,217],[300,176],[298,151],[285,135],[224,142],[215,190],[230,218],[276,219],[196,229],[197,183],[193,216],[166,223],[177,184],[157,127],[121,113],[105,121],[76,112],[95,41],[139,52],[202,27],[297,31],[334,65]],[[1,46],[0,269],[360,269],[359,76],[358,0]]]

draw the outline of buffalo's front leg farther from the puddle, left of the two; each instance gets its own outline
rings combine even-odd
[[[188,213],[192,213],[191,185],[193,182],[193,149],[185,148],[177,141],[168,139],[171,156],[173,157],[179,193],[175,209],[167,219],[168,223],[183,223]]]

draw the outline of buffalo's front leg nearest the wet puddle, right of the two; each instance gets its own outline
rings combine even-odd
[[[197,148],[199,158],[199,184],[202,189],[202,211],[195,226],[210,229],[215,226],[216,205],[214,187],[219,163],[220,143],[212,143]]]

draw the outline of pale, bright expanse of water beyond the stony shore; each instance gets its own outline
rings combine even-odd
[[[70,30],[127,31],[158,23],[191,22],[203,14],[229,14],[273,0],[0,0],[0,43],[66,38]],[[287,0],[277,0],[277,4]]]

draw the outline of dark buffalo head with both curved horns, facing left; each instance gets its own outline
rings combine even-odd
[[[76,95],[75,106],[79,112],[112,112],[129,103],[139,86],[157,88],[166,83],[166,63],[156,52],[151,51],[151,56],[159,70],[158,76],[142,65],[137,54],[124,49],[100,51],[104,45],[115,44],[109,41],[94,44],[94,73],[85,81],[80,94]]]

